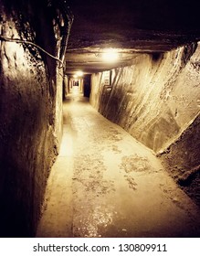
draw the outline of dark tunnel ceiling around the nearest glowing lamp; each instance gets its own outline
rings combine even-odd
[[[68,0],[74,22],[68,39],[67,73],[127,65],[138,52],[164,52],[200,39],[195,0]],[[118,48],[120,60],[105,64],[104,48]]]

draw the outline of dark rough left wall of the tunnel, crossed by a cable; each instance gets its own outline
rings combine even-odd
[[[0,1],[1,36],[59,56],[46,1]],[[55,36],[57,35],[57,41]],[[61,132],[61,69],[26,43],[0,41],[0,236],[34,236]],[[57,90],[58,88],[58,90]]]

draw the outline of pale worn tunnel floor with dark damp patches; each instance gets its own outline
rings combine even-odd
[[[199,237],[199,209],[153,152],[74,88],[37,237]]]

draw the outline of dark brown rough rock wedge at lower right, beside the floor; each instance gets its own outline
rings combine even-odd
[[[159,157],[171,176],[200,206],[200,116]]]

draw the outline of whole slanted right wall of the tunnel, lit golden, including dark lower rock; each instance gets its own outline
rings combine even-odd
[[[91,77],[90,103],[151,148],[199,202],[200,46],[140,54]]]

